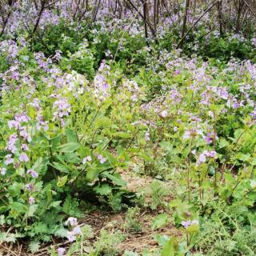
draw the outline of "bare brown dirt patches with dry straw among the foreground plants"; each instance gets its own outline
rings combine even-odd
[[[133,192],[142,191],[146,187],[150,186],[150,183],[153,181],[152,178],[139,177],[135,174],[127,173],[122,173],[122,178],[127,182],[127,189]],[[171,198],[168,198],[168,201],[169,200],[171,200]],[[140,232],[130,232],[130,230],[126,230],[123,227],[123,223],[125,222],[126,218],[126,212],[113,214],[97,210],[90,214],[86,214],[85,218],[79,220],[79,225],[91,226],[94,232],[94,237],[90,238],[90,245],[94,244],[102,230],[107,230],[110,233],[119,231],[126,236],[125,240],[118,245],[118,250],[121,252],[120,255],[122,255],[125,250],[139,253],[142,252],[143,249],[154,250],[154,248],[158,247],[157,242],[154,240],[154,234],[165,234],[168,236],[179,236],[181,234],[181,232],[171,224],[158,230],[151,229],[150,223],[152,222],[152,219],[162,212],[163,210],[161,209],[154,211],[150,209],[141,210],[141,213],[138,216],[138,220],[142,224],[142,231]],[[70,246],[70,243],[59,241],[57,242],[53,240],[50,245],[42,246],[42,248],[40,248],[40,250],[38,250],[36,253],[31,254],[27,250],[26,243],[10,245],[0,242],[0,256],[46,256],[50,255],[48,254],[48,250],[50,249],[50,246],[53,245],[56,246],[56,248],[59,246],[68,247]]]

